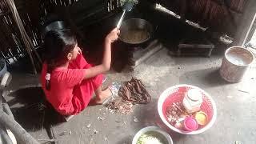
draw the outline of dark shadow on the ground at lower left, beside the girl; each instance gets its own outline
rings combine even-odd
[[[62,117],[46,103],[41,87],[28,87],[8,94],[7,102],[15,120],[27,131],[42,130],[62,122]]]

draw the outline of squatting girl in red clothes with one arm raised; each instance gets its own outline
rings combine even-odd
[[[106,36],[102,64],[98,66],[86,62],[70,30],[51,30],[46,34],[42,89],[60,114],[78,114],[86,108],[93,93],[95,104],[102,104],[110,97],[110,89],[102,90],[102,73],[110,70],[111,43],[118,39],[119,33],[115,28]]]

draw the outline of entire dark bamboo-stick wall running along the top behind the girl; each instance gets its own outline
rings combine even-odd
[[[0,0],[0,58],[18,58],[24,53],[23,44],[10,10],[6,8],[6,0]],[[142,2],[143,0],[140,0]],[[253,18],[255,0],[146,0],[158,2],[182,18],[198,22],[202,26],[210,27],[212,30],[221,31],[237,38],[238,43],[246,34],[246,26],[250,26]],[[102,18],[108,18],[111,14],[110,2],[117,0],[14,0],[21,15],[22,22],[26,27],[34,46],[42,46],[40,37],[41,28],[46,18],[51,13],[62,14],[70,22],[74,22],[78,29],[83,26],[93,25],[100,22]],[[64,7],[64,10],[63,10]],[[67,9],[66,9],[66,8]],[[120,10],[118,5],[114,9]],[[66,13],[62,13],[66,11]],[[114,11],[114,10],[113,10]]]

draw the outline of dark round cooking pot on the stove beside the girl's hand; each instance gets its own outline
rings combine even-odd
[[[152,38],[154,30],[150,22],[141,18],[130,18],[122,22],[119,39],[129,45],[140,45]]]

